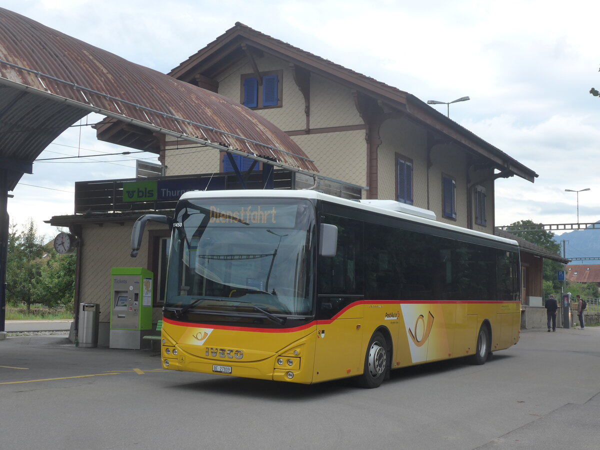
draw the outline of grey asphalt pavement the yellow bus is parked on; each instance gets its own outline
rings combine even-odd
[[[521,332],[482,366],[392,371],[377,389],[163,370],[65,335],[0,341],[0,448],[600,448],[600,327]]]

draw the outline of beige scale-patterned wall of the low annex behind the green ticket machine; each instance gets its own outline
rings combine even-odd
[[[144,233],[142,247],[137,258],[130,256],[131,227],[133,221],[124,225],[104,223],[103,226],[88,225],[82,229],[82,273],[80,302],[100,305],[98,345],[109,344],[110,330],[110,269],[113,267],[142,267],[148,263],[148,231],[163,229],[160,224],[149,224]],[[161,317],[161,309],[154,308],[152,322]]]

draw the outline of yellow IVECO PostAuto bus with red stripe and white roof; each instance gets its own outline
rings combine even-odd
[[[431,211],[310,190],[193,191],[174,218],[164,368],[379,386],[393,369],[517,343],[517,242]]]

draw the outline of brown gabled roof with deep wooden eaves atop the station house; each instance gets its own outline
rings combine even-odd
[[[210,83],[218,73],[247,57],[248,52],[265,52],[277,56],[292,62],[297,67],[367,94],[395,110],[405,112],[412,119],[425,124],[438,136],[450,137],[467,151],[492,161],[494,168],[503,172],[505,176],[517,175],[531,182],[538,176],[533,170],[461,127],[414,95],[272,38],[240,22],[236,22],[235,26],[190,56],[178,67],[173,68],[169,75],[195,83],[194,77],[200,74],[204,82]]]

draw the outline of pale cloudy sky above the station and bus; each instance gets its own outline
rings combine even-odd
[[[496,181],[496,225],[600,220],[598,19],[588,1],[4,0],[1,7],[166,73],[242,22],[423,101],[538,173]],[[268,19],[268,20],[265,20]],[[446,105],[432,106],[446,113]],[[101,116],[74,125],[93,124]],[[75,126],[50,144],[8,200],[11,223],[73,214],[74,182],[133,178],[140,153]],[[581,190],[579,194],[565,189]],[[577,201],[578,200],[578,201]],[[560,233],[557,233],[560,234]]]

